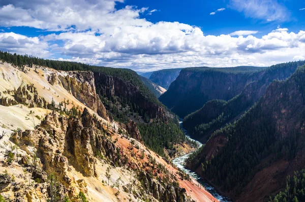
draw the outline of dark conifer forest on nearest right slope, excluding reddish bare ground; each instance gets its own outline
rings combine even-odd
[[[301,127],[294,127],[305,123],[304,80],[302,66],[286,81],[273,82],[265,96],[238,121],[212,134],[211,138],[226,139],[220,142],[224,147],[217,148],[215,157],[205,160],[201,148],[190,162],[196,167],[202,163],[202,174],[208,180],[238,195],[259,170],[279,159],[291,161],[305,146]],[[283,114],[283,110],[288,112]]]

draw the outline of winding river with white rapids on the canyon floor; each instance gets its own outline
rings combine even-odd
[[[186,136],[193,140],[196,141],[198,148],[200,148],[202,146],[202,143],[192,139],[189,134],[188,131],[185,130],[182,127],[182,122],[179,122],[181,129],[185,132]],[[177,158],[174,158],[172,160],[173,164],[175,164],[178,168],[180,168],[182,171],[184,171],[186,174],[189,174],[191,177],[193,177],[195,180],[197,180],[197,182],[199,182],[208,192],[210,192],[215,198],[217,198],[219,201],[221,202],[231,202],[231,200],[225,196],[220,195],[216,189],[214,187],[212,187],[210,184],[208,184],[208,182],[204,179],[202,179],[196,172],[186,168],[186,160],[188,159],[188,157],[191,155],[192,153],[186,154],[184,156],[180,156]]]

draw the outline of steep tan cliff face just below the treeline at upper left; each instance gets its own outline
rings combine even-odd
[[[96,93],[93,72],[70,71],[65,74],[52,73],[48,81],[52,85],[62,85],[77,100],[97,112],[102,118],[109,120],[107,110]]]

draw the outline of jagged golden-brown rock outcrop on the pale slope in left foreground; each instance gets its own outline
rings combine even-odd
[[[95,175],[96,154],[109,157],[118,165],[113,143],[107,138],[103,124],[94,118],[85,108],[81,117],[67,118],[53,111],[48,114],[35,131],[16,132],[12,140],[27,150],[27,146],[37,148],[46,172],[56,172],[69,185],[71,179],[67,175],[69,164],[72,164],[84,176]]]

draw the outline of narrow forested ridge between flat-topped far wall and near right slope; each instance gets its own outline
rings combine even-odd
[[[189,114],[184,119],[184,128],[192,137],[205,142],[212,132],[238,119],[240,114],[257,102],[271,81],[288,78],[298,66],[304,64],[305,61],[299,61],[271,66],[263,72],[259,80],[248,84],[240,94],[229,101],[211,100],[201,109]]]

